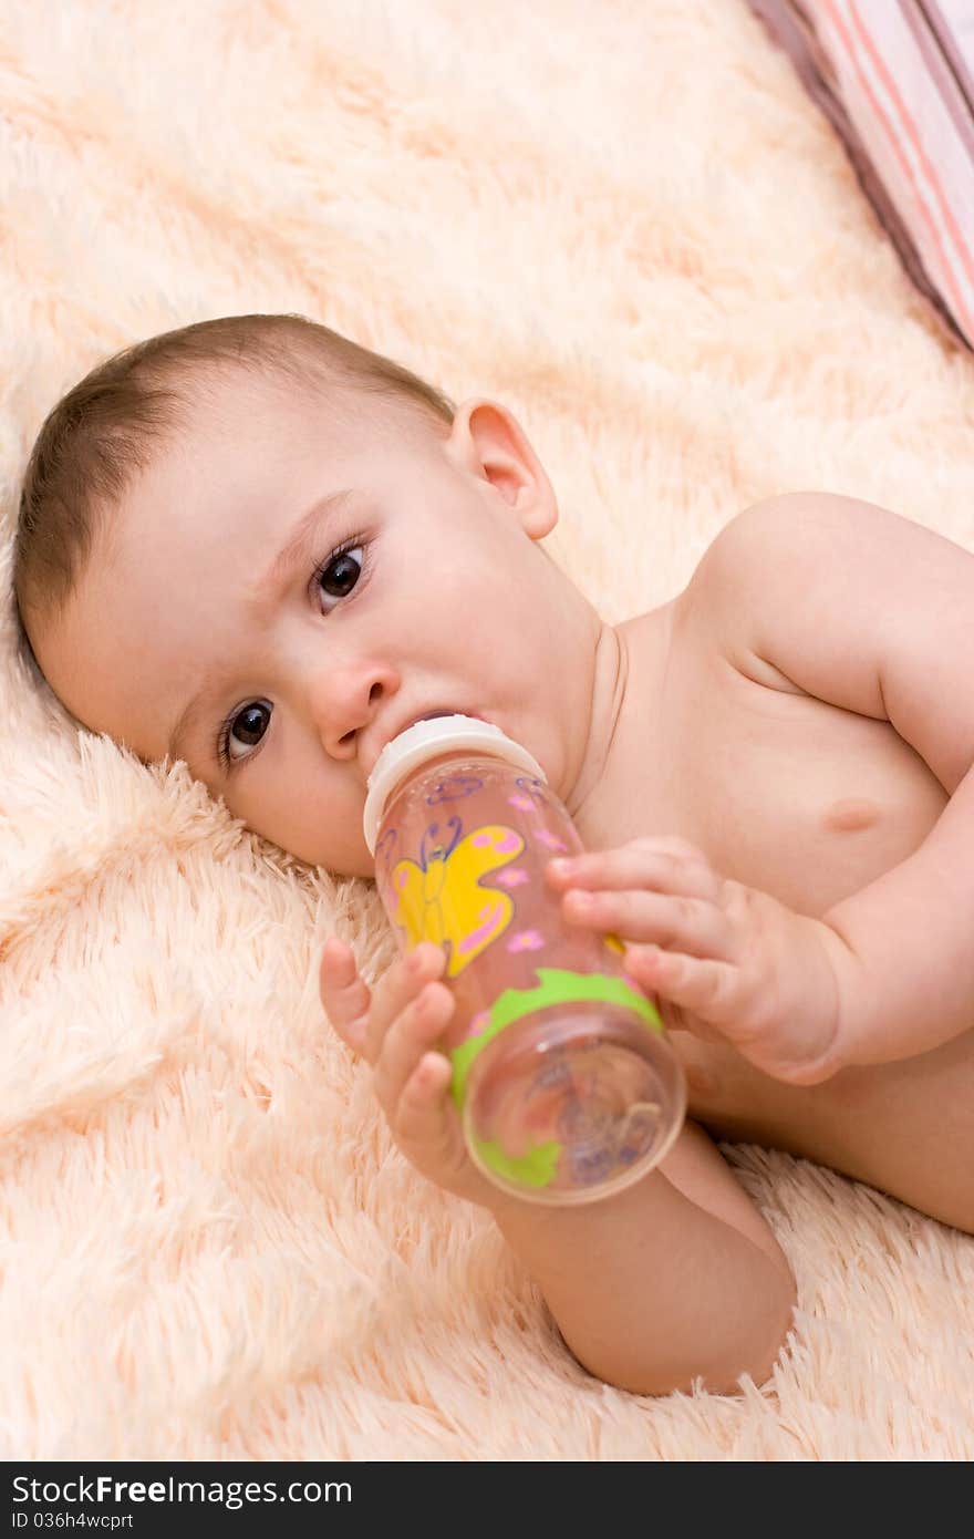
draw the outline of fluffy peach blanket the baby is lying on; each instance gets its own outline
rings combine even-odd
[[[743,0],[8,0],[3,562],[55,397],[189,320],[300,311],[525,422],[555,557],[620,620],[759,497],[974,548],[974,365]],[[0,1453],[974,1456],[974,1239],[725,1153],[799,1279],[772,1380],[617,1393],[491,1220],[431,1190],[323,1020],[369,885],[183,765],[0,689]]]

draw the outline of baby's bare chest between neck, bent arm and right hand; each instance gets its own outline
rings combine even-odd
[[[629,825],[617,837],[680,834],[800,913],[906,859],[946,803],[888,722],[769,688],[725,657],[671,659],[651,719],[615,799]]]

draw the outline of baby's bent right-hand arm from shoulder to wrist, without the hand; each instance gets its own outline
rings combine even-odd
[[[974,556],[874,503],[794,492],[720,531],[683,605],[748,676],[771,668],[889,722],[949,796],[906,860],[822,916],[842,942],[829,1071],[914,1057],[969,1031]]]

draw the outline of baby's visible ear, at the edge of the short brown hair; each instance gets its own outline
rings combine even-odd
[[[506,406],[477,396],[454,416],[446,452],[469,476],[486,480],[520,516],[532,540],[551,534],[559,506],[545,466]]]

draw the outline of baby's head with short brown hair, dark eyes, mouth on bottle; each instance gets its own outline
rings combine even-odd
[[[503,406],[454,409],[300,315],[229,315],[117,354],[48,416],[14,591],[83,726],[371,876],[366,777],[420,716],[495,722],[571,794],[602,625],[539,543],[555,522]]]

